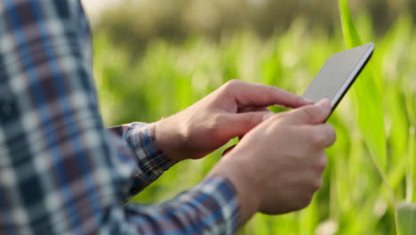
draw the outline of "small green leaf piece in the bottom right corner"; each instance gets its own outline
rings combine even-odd
[[[397,235],[416,234],[416,204],[399,203],[397,205]]]

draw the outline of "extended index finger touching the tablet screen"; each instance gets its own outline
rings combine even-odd
[[[225,86],[238,103],[238,108],[246,106],[267,107],[281,105],[287,108],[299,108],[314,103],[303,97],[284,91],[273,85],[247,83],[232,80]]]

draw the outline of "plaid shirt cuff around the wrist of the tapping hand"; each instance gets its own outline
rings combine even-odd
[[[176,164],[157,146],[155,124],[134,122],[124,132],[122,139],[137,156],[140,170],[152,180]]]

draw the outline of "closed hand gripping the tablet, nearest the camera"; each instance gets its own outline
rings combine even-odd
[[[256,212],[284,214],[307,207],[322,185],[324,149],[336,140],[324,124],[330,101],[279,113],[246,134],[209,175],[233,182],[244,223]]]

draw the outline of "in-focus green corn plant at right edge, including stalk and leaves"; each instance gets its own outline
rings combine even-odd
[[[362,45],[363,42],[356,31],[351,13],[349,12],[347,0],[340,0],[340,14],[344,38],[348,47]],[[416,205],[412,204],[412,158],[414,158],[412,135],[414,135],[414,129],[411,128],[411,138],[408,146],[410,150],[407,158],[408,174],[406,177],[406,202],[397,204],[395,194],[388,183],[387,176],[384,172],[386,170],[387,154],[383,110],[381,108],[379,93],[380,84],[378,85],[377,80],[372,74],[366,71],[362,79],[358,80],[355,92],[356,103],[358,106],[358,121],[365,142],[372,151],[373,163],[388,187],[390,200],[395,207],[396,233],[398,235],[416,234],[416,226],[413,226],[413,224],[416,223]],[[376,158],[373,157],[374,155]]]

